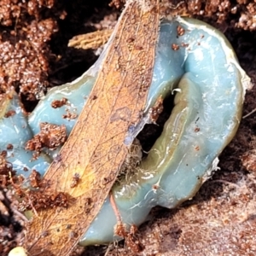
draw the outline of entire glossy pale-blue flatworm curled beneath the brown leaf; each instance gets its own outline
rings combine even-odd
[[[183,33],[178,32],[180,28]],[[6,134],[6,127],[12,125],[13,130],[10,131],[16,132],[12,137],[18,143],[12,142],[15,152],[9,161],[15,166],[15,161],[20,160],[20,166],[15,166],[19,174],[25,174],[24,165],[29,170],[38,170],[35,165],[40,164],[40,172],[46,171],[49,159],[44,159],[42,154],[38,162],[30,162],[32,155],[24,156],[24,143],[32,133],[38,133],[41,122],[64,124],[68,133],[72,130],[75,119],[63,119],[62,115],[67,111],[81,112],[103,56],[104,53],[81,78],[50,90],[28,123],[23,113],[9,118],[4,114],[1,116],[0,147],[1,150],[6,148],[3,133]],[[212,170],[217,168],[218,154],[236,134],[249,84],[229,42],[215,28],[198,20],[180,17],[161,22],[154,75],[142,124],[150,120],[148,113],[159,96],[175,93],[174,108],[164,131],[148,157],[137,166],[135,174],[113,186],[113,198],[128,229],[131,224],[142,224],[152,207],[176,207],[195,195]],[[62,98],[67,99],[67,105],[51,107],[54,100]],[[20,109],[16,96],[9,99],[9,104]],[[127,132],[124,143],[129,144],[135,139],[142,124]],[[9,143],[9,137],[7,141]],[[55,153],[57,150],[51,155]],[[87,246],[119,239],[114,234],[116,224],[116,216],[107,199],[80,244]]]

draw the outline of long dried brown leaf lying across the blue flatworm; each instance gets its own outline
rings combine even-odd
[[[137,124],[152,79],[160,19],[158,0],[148,3],[154,9],[126,4],[88,102],[60,160],[45,174],[45,193],[63,192],[69,201],[67,207],[38,210],[28,224],[25,245],[31,255],[69,255],[119,173],[126,131]],[[75,173],[79,183],[73,186]]]

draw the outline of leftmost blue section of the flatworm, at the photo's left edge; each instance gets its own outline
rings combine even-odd
[[[3,97],[0,106],[0,150],[6,151],[6,160],[24,177],[28,177],[32,170],[44,175],[51,160],[46,154],[41,154],[38,160],[31,161],[32,152],[25,150],[25,144],[33,134],[14,90]]]

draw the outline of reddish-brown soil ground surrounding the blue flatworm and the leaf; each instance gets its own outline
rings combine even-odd
[[[0,92],[10,86],[27,112],[53,86],[76,79],[97,58],[95,49],[67,47],[79,34],[112,29],[123,1],[2,0]],[[170,1],[171,2],[171,1]],[[3,3],[3,4],[2,4]],[[114,6],[115,5],[115,6]],[[256,83],[256,3],[250,0],[172,1],[171,10],[205,20],[224,32]],[[168,9],[166,10],[166,12]],[[247,91],[243,116],[256,108],[256,87]],[[191,201],[176,209],[154,208],[137,233],[141,253],[125,241],[79,248],[80,255],[255,255],[256,113],[241,119],[236,137],[220,155],[220,170]],[[6,166],[9,168],[9,166]],[[0,172],[1,168],[0,168]],[[8,173],[8,172],[7,172]],[[4,175],[7,175],[5,173]],[[0,193],[0,254],[20,245],[26,218],[12,191]]]

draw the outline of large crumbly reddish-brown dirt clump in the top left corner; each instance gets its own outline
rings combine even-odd
[[[0,7],[0,92],[14,86],[26,100],[36,101],[49,86],[49,39],[55,18],[42,18],[55,1],[3,0]],[[64,16],[63,16],[64,18]]]

